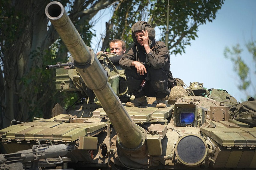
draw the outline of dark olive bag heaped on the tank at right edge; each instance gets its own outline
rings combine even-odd
[[[250,125],[250,128],[256,126],[256,100],[253,98],[250,101],[244,101],[237,106],[231,107],[228,110],[231,119],[243,122]]]

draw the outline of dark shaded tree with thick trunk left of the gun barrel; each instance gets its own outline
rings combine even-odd
[[[44,14],[50,1],[0,0],[1,16],[1,74],[0,90],[2,123],[10,125],[12,119],[27,122],[34,116],[49,117],[56,102],[64,103],[55,90],[54,70],[45,65],[66,62],[67,48]],[[83,32],[85,42],[93,36],[90,19],[113,1],[68,1],[69,17]],[[88,43],[89,45],[89,43]],[[64,102],[63,102],[64,101]]]

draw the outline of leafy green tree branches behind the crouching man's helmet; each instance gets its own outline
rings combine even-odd
[[[185,52],[185,47],[197,37],[198,26],[206,21],[212,22],[223,3],[223,0],[170,0],[170,53]],[[167,0],[122,1],[117,4],[114,15],[106,24],[107,36],[101,50],[108,48],[109,41],[115,38],[125,40],[130,45],[133,42],[131,27],[138,18],[162,30],[161,41],[165,41],[167,4]]]

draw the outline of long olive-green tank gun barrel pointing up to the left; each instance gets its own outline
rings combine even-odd
[[[51,2],[45,14],[74,58],[74,65],[85,84],[93,90],[114,126],[119,141],[127,149],[139,147],[143,131],[132,121],[121,101],[108,84],[107,75],[91,48],[87,47],[62,4]]]

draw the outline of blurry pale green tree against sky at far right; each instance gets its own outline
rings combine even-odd
[[[255,63],[255,70],[256,72],[256,41],[248,41],[245,44],[248,52],[252,54],[252,59],[253,62]],[[243,49],[241,49],[240,44],[236,44],[232,46],[231,48],[225,47],[224,49],[224,56],[225,58],[230,59],[234,66],[233,69],[236,72],[238,78],[239,78],[239,85],[238,89],[242,90],[246,94],[246,98],[248,99],[249,97],[256,97],[256,86],[252,85],[251,79],[249,74],[250,74],[250,68],[249,66],[244,62],[244,57],[241,55]],[[254,74],[255,75],[255,74]],[[256,78],[256,77],[255,77]],[[253,78],[253,79],[255,79]],[[252,87],[254,94],[251,92],[248,92],[249,87]]]

